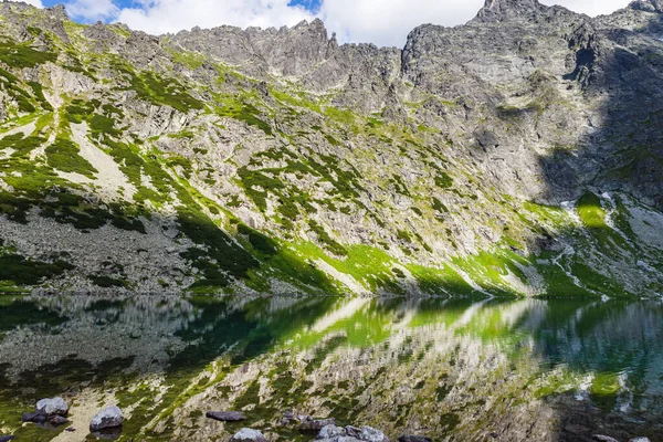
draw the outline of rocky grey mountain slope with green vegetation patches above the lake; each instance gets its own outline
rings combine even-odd
[[[659,296],[663,8],[404,49],[0,3],[6,291]]]

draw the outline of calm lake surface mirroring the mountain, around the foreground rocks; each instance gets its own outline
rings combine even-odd
[[[75,432],[21,424],[52,396]],[[0,296],[0,434],[94,440],[110,404],[126,441],[313,440],[287,410],[393,439],[663,441],[663,304]]]

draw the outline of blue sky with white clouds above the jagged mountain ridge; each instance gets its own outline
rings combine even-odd
[[[64,2],[74,20],[123,22],[151,34],[193,27],[281,28],[318,17],[340,43],[399,46],[422,23],[462,24],[485,0],[24,0],[38,7]],[[589,15],[624,8],[629,0],[540,0]]]

